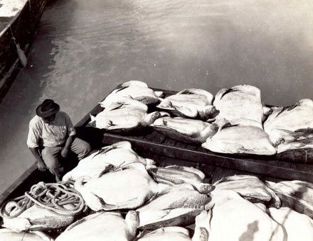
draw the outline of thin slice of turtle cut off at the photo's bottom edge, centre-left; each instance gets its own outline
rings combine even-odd
[[[136,241],[191,241],[189,230],[182,227],[164,227],[157,230],[140,232]],[[192,241],[207,241],[204,235],[193,235]]]

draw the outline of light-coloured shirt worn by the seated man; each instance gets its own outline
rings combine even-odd
[[[62,145],[69,135],[75,135],[75,128],[70,116],[63,111],[55,115],[51,123],[44,123],[43,119],[35,116],[29,122],[27,138],[28,147],[38,147],[42,140],[44,147],[57,147]]]

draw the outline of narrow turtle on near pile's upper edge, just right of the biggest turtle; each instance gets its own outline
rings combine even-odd
[[[205,178],[203,172],[193,167],[153,167],[149,169],[149,173],[159,183],[170,186],[174,186],[175,184],[191,184],[201,194],[207,194],[213,189],[211,184],[203,183]]]

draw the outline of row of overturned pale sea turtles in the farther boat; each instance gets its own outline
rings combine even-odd
[[[221,89],[216,96],[203,89],[185,89],[164,99],[162,94],[144,82],[125,82],[100,103],[105,109],[92,116],[90,125],[121,133],[149,126],[212,152],[313,162],[310,99],[266,106],[260,89],[250,85]],[[157,111],[148,113],[148,106]]]

